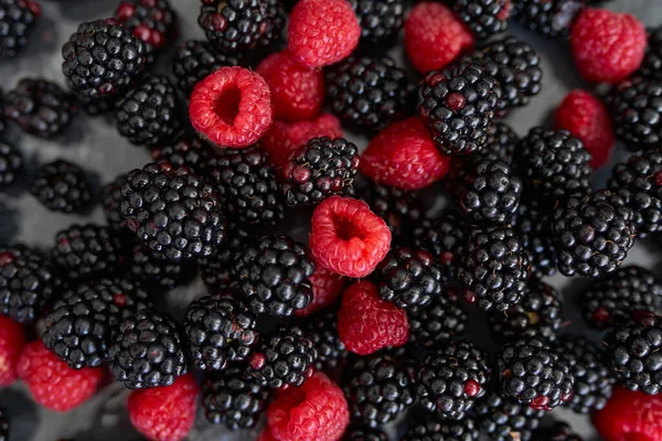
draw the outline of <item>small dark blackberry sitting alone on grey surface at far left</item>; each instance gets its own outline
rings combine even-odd
[[[85,172],[67,161],[56,160],[42,165],[30,186],[34,195],[52,212],[79,212],[92,201],[92,190]]]

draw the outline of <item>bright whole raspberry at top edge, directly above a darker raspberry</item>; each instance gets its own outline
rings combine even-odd
[[[300,0],[287,29],[290,52],[303,64],[321,67],[349,56],[361,26],[346,0]]]

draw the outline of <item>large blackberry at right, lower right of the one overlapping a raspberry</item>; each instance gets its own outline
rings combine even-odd
[[[558,271],[567,277],[616,271],[634,244],[633,220],[626,200],[607,190],[570,197],[554,213]]]

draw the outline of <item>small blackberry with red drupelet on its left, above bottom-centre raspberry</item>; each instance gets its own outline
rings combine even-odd
[[[297,326],[280,327],[264,336],[248,359],[248,373],[271,389],[301,386],[314,370],[318,351]]]

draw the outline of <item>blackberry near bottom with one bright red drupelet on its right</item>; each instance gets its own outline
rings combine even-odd
[[[459,420],[485,394],[491,375],[488,354],[460,340],[425,357],[416,396],[430,412]]]

